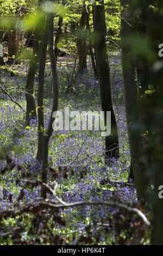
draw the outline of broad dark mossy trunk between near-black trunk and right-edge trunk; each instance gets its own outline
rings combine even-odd
[[[126,96],[126,114],[131,152],[131,164],[134,173],[137,197],[148,199],[152,193],[150,180],[147,174],[147,157],[142,141],[142,124],[139,113],[139,100],[137,85],[135,82],[135,53],[132,44],[127,44],[127,36],[135,36],[134,10],[127,7],[132,0],[121,0],[122,23],[121,23],[121,48],[122,48],[122,71],[124,91]],[[129,21],[130,26],[127,24]],[[129,39],[128,39],[129,40]]]

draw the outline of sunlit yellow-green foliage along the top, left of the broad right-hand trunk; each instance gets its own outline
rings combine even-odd
[[[89,6],[91,32],[93,32],[92,4],[99,4],[99,2],[85,1],[85,5]],[[84,1],[71,0],[71,2],[68,2],[66,7],[64,4],[45,1],[45,4],[40,5],[39,9],[36,10],[36,7],[36,0],[4,0],[0,3],[1,28],[12,30],[16,27],[17,30],[24,29],[26,31],[30,31],[37,25],[42,27],[45,14],[53,11],[55,15],[64,17],[62,27],[74,22],[77,30],[79,27],[82,8],[84,8]],[[105,1],[105,17],[107,29],[106,41],[109,42],[109,44],[120,41],[121,22],[119,0],[114,1],[114,3],[112,3],[110,0]],[[54,25],[57,26],[57,23],[58,17],[55,17]]]

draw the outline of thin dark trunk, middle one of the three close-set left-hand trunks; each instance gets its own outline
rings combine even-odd
[[[37,156],[36,159],[42,161],[42,152],[43,152],[43,134],[44,134],[44,120],[43,120],[43,84],[45,78],[45,65],[46,65],[46,50],[47,50],[47,33],[43,39],[42,54],[39,64],[39,92],[37,99],[37,112],[38,112],[38,147],[37,147]]]

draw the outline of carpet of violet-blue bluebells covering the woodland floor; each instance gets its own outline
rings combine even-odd
[[[65,58],[65,63],[68,62]],[[50,67],[47,65],[46,74],[49,74]],[[21,87],[26,85],[27,66],[17,66],[16,75],[2,75],[2,82],[5,88]],[[59,109],[65,106],[70,107],[70,111],[101,111],[99,99],[99,83],[93,76],[91,62],[88,60],[88,69],[83,75],[79,75],[75,90],[66,92],[67,74],[71,75],[72,67],[58,65],[59,80]],[[60,164],[78,165],[73,167],[73,175],[57,178],[57,193],[66,202],[77,202],[80,200],[117,200],[120,203],[133,205],[136,203],[136,192],[133,187],[110,184],[101,184],[102,180],[111,179],[127,181],[130,168],[130,151],[128,145],[126,112],[124,107],[124,89],[121,70],[120,53],[110,56],[110,74],[112,99],[117,118],[118,135],[120,142],[120,159],[110,159],[108,166],[104,164],[104,138],[99,131],[55,131],[49,142],[49,164],[58,166]],[[37,99],[38,78],[35,78],[35,97]],[[10,95],[26,109],[26,100],[23,89],[8,90]],[[12,102],[7,95],[0,92],[0,163],[1,169],[5,167],[4,154],[7,152],[18,165],[21,165],[25,172],[32,172],[36,178],[40,178],[41,165],[36,161],[37,153],[37,121],[32,120],[31,126],[25,125],[25,115],[17,105]],[[45,79],[45,127],[48,125],[49,114],[52,107],[52,77]],[[85,143],[83,144],[85,140]],[[83,146],[82,146],[83,144]],[[82,148],[81,148],[82,146]],[[79,153],[79,154],[78,154]],[[87,175],[81,176],[79,165],[84,164]],[[5,188],[3,199],[0,199],[0,208],[9,209],[17,200],[21,187],[14,180],[20,178],[20,170],[17,165],[11,172],[1,174],[0,185]],[[56,167],[57,168],[57,167]],[[48,173],[48,181],[53,182],[51,173]],[[30,202],[40,197],[40,188],[26,188],[25,196],[21,203]],[[12,200],[8,195],[13,193]],[[48,195],[48,197],[51,197]],[[71,237],[72,244],[76,244],[79,236],[85,232],[84,225],[92,223],[102,223],[104,220],[111,220],[118,212],[106,206],[78,206],[78,208],[61,209],[62,216],[66,220],[66,228],[56,224],[54,233],[64,234]],[[12,220],[7,225],[14,225]],[[40,223],[41,225],[41,223]],[[99,226],[100,227],[100,226]],[[41,228],[41,227],[40,227]],[[78,230],[78,231],[77,231]],[[101,244],[110,244],[114,241],[114,230],[103,232],[100,229]],[[97,231],[97,227],[96,230]],[[93,228],[92,228],[93,234]],[[24,234],[26,236],[26,234]]]

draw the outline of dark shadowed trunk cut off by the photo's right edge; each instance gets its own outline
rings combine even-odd
[[[163,29],[162,1],[155,1],[154,7],[153,9],[151,1],[148,1],[148,36],[153,52],[156,53],[154,62],[149,60],[151,66],[150,85],[155,89],[155,93],[147,97],[143,109],[145,109],[145,112],[148,110],[152,115],[152,121],[149,123],[152,136],[148,141],[148,149],[152,151],[152,167],[154,169],[152,245],[163,245],[163,199],[159,196],[159,192],[161,192],[159,187],[163,185],[163,67],[161,65],[159,69],[153,68],[155,63],[162,63],[162,59],[158,54],[159,44],[163,42],[163,35],[160,33]]]

